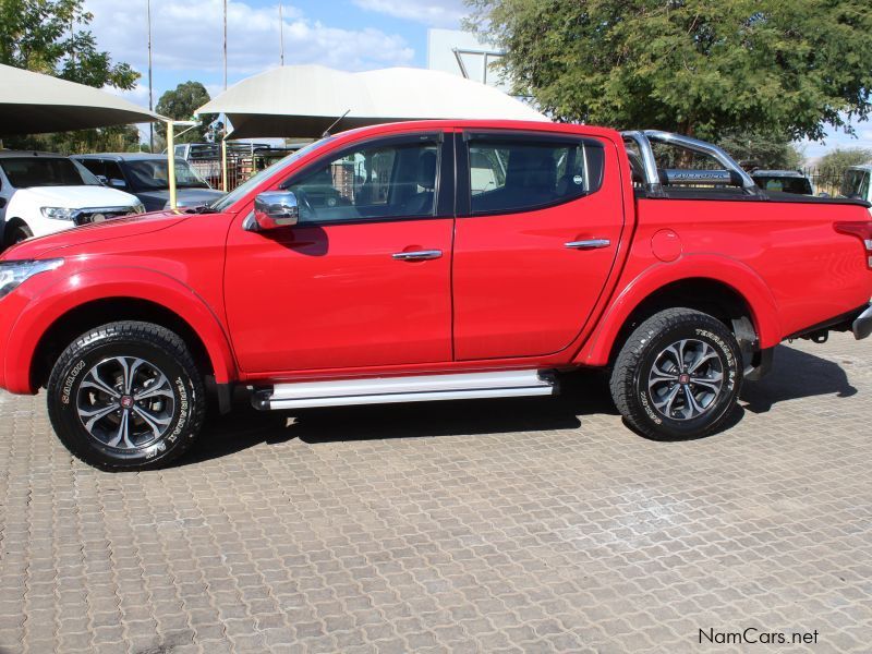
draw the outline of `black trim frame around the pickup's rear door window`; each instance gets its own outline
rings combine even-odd
[[[476,211],[472,213],[472,169],[469,161],[470,143],[476,138],[482,141],[507,141],[507,142],[522,142],[525,144],[546,143],[548,145],[562,143],[566,145],[578,145],[581,142],[586,142],[594,147],[603,149],[603,179],[600,181],[600,186],[596,191],[584,193],[568,199],[557,199],[541,205],[523,207],[519,209],[498,209],[494,211]],[[455,136],[455,152],[457,159],[456,170],[456,189],[457,189],[457,217],[458,218],[486,218],[488,216],[513,216],[516,214],[528,214],[530,211],[541,211],[552,207],[578,202],[585,197],[590,197],[594,193],[598,193],[603,187],[605,181],[605,150],[606,144],[600,138],[588,136],[584,134],[564,134],[550,132],[536,132],[531,130],[517,131],[517,130],[464,130]],[[462,171],[462,172],[461,172]]]

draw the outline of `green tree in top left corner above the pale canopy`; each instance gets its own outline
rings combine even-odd
[[[87,27],[83,0],[0,0],[0,63],[88,86],[133,88],[140,73],[112,63]]]

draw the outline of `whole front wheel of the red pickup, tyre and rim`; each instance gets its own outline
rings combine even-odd
[[[184,341],[158,325],[112,323],[64,350],[48,383],[48,412],[76,457],[109,471],[180,457],[199,432],[203,379]]]

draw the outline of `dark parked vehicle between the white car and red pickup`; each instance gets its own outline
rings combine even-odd
[[[169,174],[165,155],[120,153],[76,155],[80,164],[104,184],[138,197],[146,211],[169,207]],[[223,195],[216,191],[184,159],[175,159],[177,205],[196,208]]]

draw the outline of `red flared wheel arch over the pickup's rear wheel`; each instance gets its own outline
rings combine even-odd
[[[574,363],[610,364],[638,325],[658,311],[677,306],[713,315],[734,330],[739,340],[753,340],[754,349],[772,348],[780,341],[775,301],[760,277],[735,259],[688,258],[697,261],[681,266],[681,271],[668,265],[655,266],[628,284]]]

